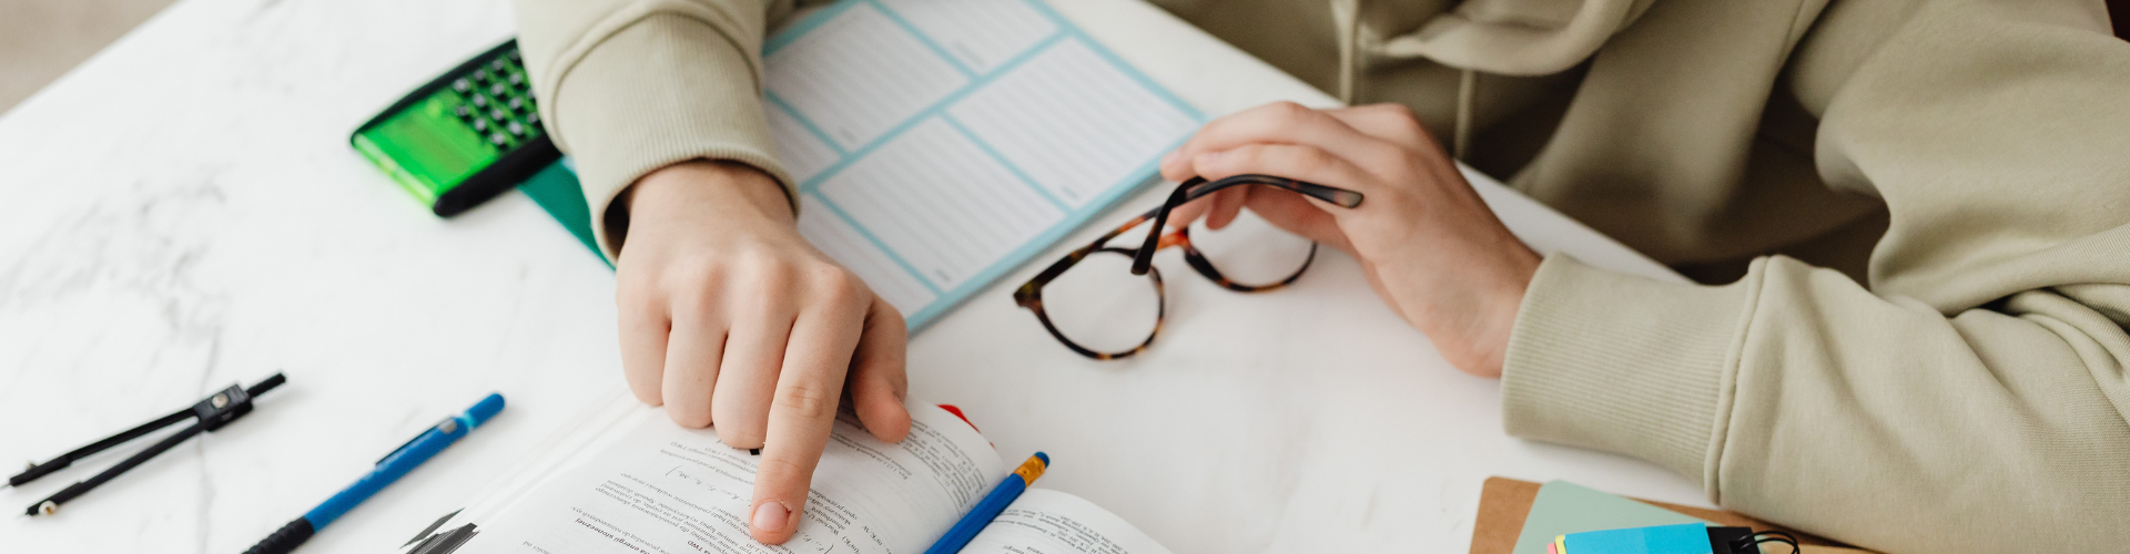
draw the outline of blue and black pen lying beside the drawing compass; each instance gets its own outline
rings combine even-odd
[[[466,413],[452,416],[449,420],[424,430],[420,437],[413,437],[413,441],[407,441],[398,450],[392,450],[392,454],[386,454],[383,460],[377,460],[371,475],[362,475],[360,482],[343,488],[341,494],[332,494],[326,503],[305,511],[302,518],[296,518],[294,522],[281,526],[281,531],[266,535],[264,541],[251,545],[245,554],[288,554],[290,550],[296,550],[296,545],[311,539],[311,533],[326,528],[332,520],[339,520],[341,514],[347,514],[362,501],[368,501],[371,494],[377,494],[377,490],[383,490],[388,484],[398,482],[400,475],[407,475],[407,471],[428,462],[428,458],[437,456],[437,452],[443,452],[443,447],[456,443],[460,437],[466,437],[466,433],[473,433],[475,426],[486,424],[488,418],[496,416],[496,411],[503,411],[503,394],[488,394],[488,398],[469,407]]]

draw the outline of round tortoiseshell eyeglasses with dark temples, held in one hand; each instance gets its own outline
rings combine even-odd
[[[1044,328],[1050,330],[1050,337],[1056,337],[1059,343],[1065,343],[1065,347],[1069,347],[1071,352],[1078,352],[1080,356],[1088,356],[1095,360],[1116,360],[1144,352],[1148,345],[1154,343],[1154,335],[1161,332],[1161,322],[1167,315],[1167,300],[1163,298],[1165,290],[1161,286],[1161,271],[1152,266],[1154,251],[1159,249],[1182,247],[1184,262],[1189,262],[1191,268],[1195,268],[1206,279],[1212,279],[1220,288],[1233,292],[1267,292],[1293,283],[1295,279],[1301,277],[1304,271],[1310,268],[1310,262],[1316,260],[1316,243],[1308,243],[1306,249],[1308,254],[1301,254],[1297,249],[1293,254],[1287,254],[1282,260],[1269,262],[1269,266],[1274,268],[1293,266],[1293,271],[1274,273],[1287,277],[1261,286],[1250,286],[1225,277],[1214,266],[1214,262],[1208,260],[1206,251],[1201,251],[1197,245],[1191,243],[1189,226],[1167,234],[1161,232],[1163,226],[1167,226],[1169,211],[1174,211],[1176,207],[1240,185],[1265,185],[1265,188],[1287,190],[1346,209],[1361,205],[1359,192],[1327,188],[1284,177],[1235,175],[1220,181],[1206,181],[1203,177],[1197,177],[1176,185],[1176,192],[1172,192],[1169,198],[1161,202],[1159,209],[1140,213],[1140,217],[1133,217],[1125,226],[1110,230],[1101,239],[1095,239],[1095,243],[1088,243],[1086,247],[1065,254],[1063,260],[1056,260],[1054,264],[1037,273],[1035,279],[1029,279],[1018,290],[1014,290],[1014,303],[1029,311],[1035,311],[1035,320],[1039,320]],[[1152,228],[1146,230],[1146,241],[1142,241],[1140,247],[1110,245],[1110,241],[1114,241],[1125,232],[1131,232],[1133,228],[1146,224],[1148,219],[1152,222]],[[1114,256],[1129,258],[1131,260],[1129,268],[1118,266],[1123,260]],[[1259,266],[1267,264],[1265,260],[1252,260],[1252,262],[1259,262]],[[1137,281],[1140,275],[1152,281],[1152,300],[1144,298],[1146,292],[1144,288],[1140,288],[1137,294],[1131,294],[1135,288],[1131,286],[1131,281]],[[1069,311],[1078,313],[1071,313],[1069,317],[1052,317],[1052,311],[1046,309],[1044,305],[1044,288],[1065,281],[1071,281],[1074,294],[1069,303],[1054,303],[1054,305],[1071,307]],[[1152,307],[1150,313],[1146,311],[1148,305]]]

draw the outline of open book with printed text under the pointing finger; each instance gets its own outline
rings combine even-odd
[[[409,552],[918,554],[1012,467],[976,426],[946,409],[916,405],[910,418],[901,443],[882,443],[854,420],[837,420],[797,535],[763,545],[748,535],[760,456],[613,394],[552,439],[541,450],[545,458],[422,531]],[[1114,514],[1044,488],[1020,494],[961,552],[1167,554]]]

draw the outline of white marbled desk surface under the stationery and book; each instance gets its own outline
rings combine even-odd
[[[1052,4],[1206,113],[1331,102],[1137,0]],[[0,115],[0,460],[290,377],[53,518],[0,516],[0,552],[239,552],[445,413],[509,396],[302,548],[386,552],[622,386],[607,266],[524,196],[443,222],[347,147],[509,34],[503,0],[185,0]],[[1538,249],[1678,279],[1478,185]],[[1487,475],[1706,505],[1653,465],[1506,437],[1500,384],[1442,362],[1346,256],[1259,296],[1163,264],[1172,313],[1146,356],[1052,343],[1010,300],[1025,268],[912,341],[914,396],[965,407],[1007,460],[1048,450],[1042,486],[1176,552],[1465,552]],[[0,490],[0,509],[126,452]]]

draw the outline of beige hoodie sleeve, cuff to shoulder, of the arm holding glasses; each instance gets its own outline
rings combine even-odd
[[[1928,2],[1800,68],[1821,177],[1891,213],[1870,288],[1789,258],[1717,288],[1549,258],[1508,430],[1883,552],[2121,550],[2130,43],[2096,6]]]

